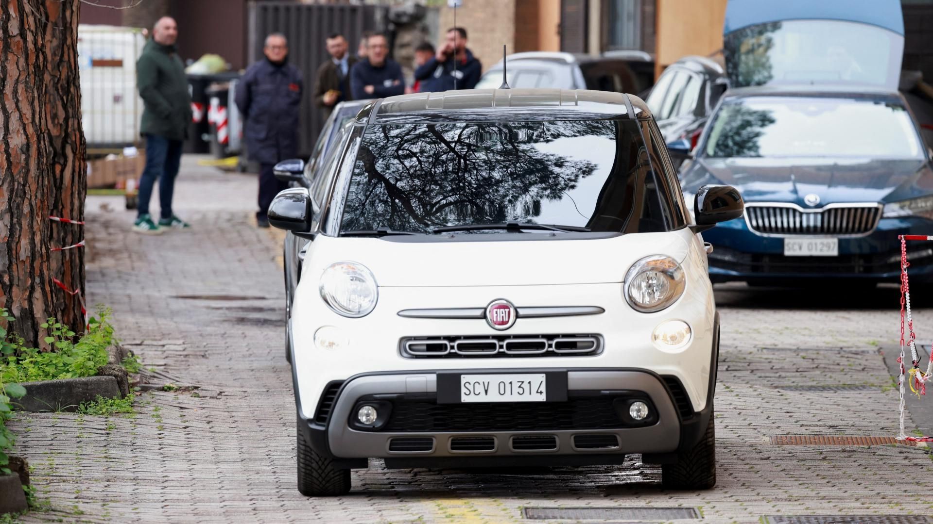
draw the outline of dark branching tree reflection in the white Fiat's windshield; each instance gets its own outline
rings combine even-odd
[[[427,230],[530,222],[596,165],[538,145],[558,138],[615,139],[606,120],[382,125],[359,148],[341,228]]]

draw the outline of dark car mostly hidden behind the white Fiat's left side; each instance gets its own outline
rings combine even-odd
[[[290,159],[280,163],[275,167],[275,176],[279,180],[288,182],[292,187],[313,188],[315,183],[320,183],[320,173],[322,167],[327,165],[327,161],[334,161],[338,157],[333,151],[336,145],[341,143],[342,134],[345,131],[347,122],[352,120],[360,109],[370,103],[369,100],[354,100],[341,102],[334,106],[330,117],[324,122],[324,127],[317,135],[317,142],[314,143],[314,149],[308,161],[302,159]],[[285,246],[283,248],[283,266],[285,267],[285,315],[291,316],[291,302],[295,294],[295,286],[298,285],[299,275],[301,274],[301,259],[304,258],[305,248],[308,244],[306,239],[299,239],[291,233],[285,233]],[[291,362],[291,353],[285,348],[285,358]]]

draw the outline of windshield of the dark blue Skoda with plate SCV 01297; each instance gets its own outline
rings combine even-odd
[[[903,105],[856,99],[749,97],[726,102],[709,131],[707,157],[921,159]]]

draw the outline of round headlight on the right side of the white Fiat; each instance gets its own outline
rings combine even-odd
[[[684,270],[670,256],[646,256],[625,274],[623,293],[635,310],[652,313],[667,308],[684,294]]]

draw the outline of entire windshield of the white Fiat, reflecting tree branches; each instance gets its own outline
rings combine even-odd
[[[642,132],[623,119],[369,126],[341,234],[683,227],[676,182],[652,169],[661,159]]]

